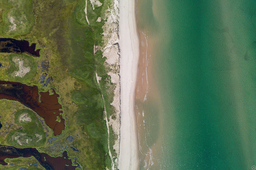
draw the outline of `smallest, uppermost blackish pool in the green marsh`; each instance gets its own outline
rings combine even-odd
[[[36,49],[36,44],[32,43],[29,46],[29,42],[26,40],[16,40],[13,38],[0,38],[0,53],[27,53],[34,57],[40,57],[40,49]]]

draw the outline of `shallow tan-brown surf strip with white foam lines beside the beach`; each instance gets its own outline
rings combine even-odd
[[[154,8],[153,8],[154,7]],[[136,3],[136,11],[145,7]],[[152,6],[156,16],[156,6]],[[141,16],[137,16],[138,22],[145,24]],[[150,34],[147,25],[138,27],[139,34],[139,64],[135,93],[135,115],[137,137],[139,147],[139,169],[159,169],[162,159],[163,119],[162,98],[156,82],[158,75],[155,72],[155,64],[158,62],[158,50],[161,43],[161,34]]]

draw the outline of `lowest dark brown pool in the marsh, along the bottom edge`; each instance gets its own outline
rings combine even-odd
[[[4,161],[6,158],[18,157],[35,157],[37,161],[46,170],[75,170],[77,166],[72,166],[71,159],[68,159],[67,151],[62,153],[62,157],[50,157],[46,153],[39,153],[36,148],[17,148],[11,146],[0,145],[0,164],[7,165]]]

